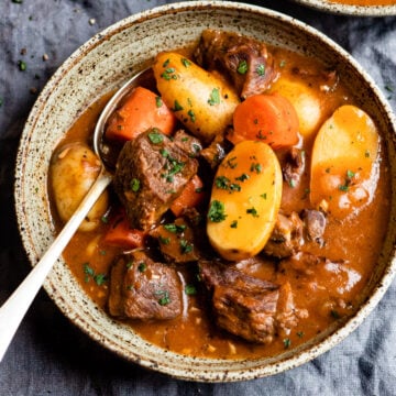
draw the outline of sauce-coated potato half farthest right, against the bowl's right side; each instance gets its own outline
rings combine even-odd
[[[354,106],[342,106],[315,140],[310,200],[345,218],[369,204],[377,183],[380,135],[372,119]]]

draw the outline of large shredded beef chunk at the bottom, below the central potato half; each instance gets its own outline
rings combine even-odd
[[[306,316],[293,302],[290,285],[275,285],[233,267],[199,262],[200,276],[211,292],[217,324],[248,341],[271,343]]]

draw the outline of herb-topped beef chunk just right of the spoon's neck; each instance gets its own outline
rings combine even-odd
[[[131,227],[153,228],[197,169],[197,160],[157,129],[127,142],[113,184]]]

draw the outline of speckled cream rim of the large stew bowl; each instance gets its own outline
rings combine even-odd
[[[19,228],[21,230],[21,237],[25,250],[28,252],[28,256],[30,261],[34,263],[37,261],[37,253],[35,250],[34,244],[32,243],[32,239],[25,232],[25,209],[24,209],[24,179],[23,173],[25,169],[25,157],[29,155],[29,143],[34,131],[35,124],[37,119],[40,118],[41,111],[45,107],[46,101],[52,96],[52,92],[56,90],[57,85],[59,81],[67,75],[69,68],[74,67],[78,62],[84,58],[84,56],[89,53],[92,48],[100,45],[100,42],[107,40],[116,32],[120,32],[125,26],[130,26],[133,23],[139,21],[144,21],[146,19],[156,18],[156,15],[161,15],[164,12],[179,12],[179,11],[193,11],[195,9],[206,9],[211,8],[212,10],[227,10],[227,9],[238,9],[242,12],[253,12],[256,14],[262,14],[266,18],[272,18],[277,21],[284,21],[285,23],[293,23],[297,28],[307,31],[310,35],[317,37],[320,41],[331,45],[334,51],[337,51],[342,57],[346,58],[348,62],[355,68],[364,79],[370,84],[377,100],[384,107],[385,112],[388,116],[388,124],[392,127],[393,131],[396,131],[396,121],[394,116],[392,114],[391,107],[386,102],[382,92],[376,88],[374,81],[366,75],[366,73],[360,67],[360,65],[340,46],[333,43],[330,38],[326,37],[320,32],[314,30],[312,28],[304,24],[302,22],[296,21],[289,16],[283,15],[280,13],[266,10],[264,8],[249,6],[243,3],[234,3],[234,2],[227,2],[227,1],[196,1],[196,2],[182,2],[182,3],[173,3],[163,7],[158,7],[135,15],[131,15],[111,26],[106,29],[105,31],[98,33],[92,38],[90,38],[87,43],[85,43],[81,47],[79,47],[54,74],[54,76],[50,79],[47,85],[44,87],[42,94],[40,95],[36,103],[34,105],[31,114],[26,121],[26,125],[22,133],[20,148],[18,152],[18,160],[16,160],[16,169],[15,169],[15,208],[16,208],[16,216]],[[389,128],[391,128],[389,127]],[[45,184],[45,182],[44,182]],[[45,200],[45,197],[43,198]],[[395,217],[395,216],[394,216]],[[47,241],[48,243],[51,241]],[[395,244],[395,242],[394,242]],[[124,351],[122,350],[122,345],[119,344],[119,340],[117,337],[107,338],[106,334],[102,334],[100,331],[100,326],[98,327],[98,322],[87,320],[85,317],[78,315],[77,311],[73,309],[73,302],[70,305],[69,301],[65,299],[65,296],[59,295],[57,290],[57,282],[62,280],[59,276],[55,273],[50,275],[48,280],[44,285],[48,295],[54,299],[56,305],[59,309],[80,329],[87,332],[92,339],[98,341],[100,344],[105,345],[106,348],[114,351],[116,353],[122,355],[123,358],[136,362],[144,367],[153,369],[170,376],[175,376],[183,380],[193,380],[193,381],[205,381],[205,382],[230,382],[230,381],[245,381],[255,377],[262,377],[267,375],[273,375],[285,370],[293,369],[298,366],[311,359],[320,355],[321,353],[328,351],[341,340],[343,340],[348,334],[350,334],[363,320],[374,309],[375,305],[380,301],[382,296],[385,294],[387,287],[391,285],[393,277],[396,273],[396,260],[395,260],[395,245],[393,244],[393,260],[386,266],[383,276],[381,277],[381,283],[374,287],[372,296],[365,301],[362,307],[359,309],[356,315],[352,318],[348,319],[343,327],[339,329],[333,329],[328,334],[323,341],[317,345],[311,343],[307,343],[304,348],[297,349],[297,353],[295,351],[285,352],[282,356],[276,359],[267,359],[264,365],[257,365],[256,362],[252,361],[237,361],[234,364],[233,361],[218,361],[218,360],[207,360],[207,359],[196,359],[196,358],[186,358],[182,355],[174,354],[172,352],[160,350],[154,348],[154,352],[162,353],[165,355],[165,360],[162,362],[156,361],[154,358],[141,356],[140,352],[134,352],[133,350]],[[65,266],[65,263],[62,260],[57,261],[57,266]],[[65,268],[63,268],[65,271]],[[88,302],[89,304],[89,302]],[[87,308],[87,312],[92,314],[89,308]],[[99,314],[98,314],[99,315]],[[100,315],[98,316],[100,321]],[[98,319],[96,318],[96,319]],[[145,342],[143,341],[143,344]],[[132,344],[133,346],[133,344]],[[152,345],[145,343],[147,348],[152,348]],[[151,351],[151,352],[153,352]],[[162,352],[160,352],[162,351]],[[155,356],[155,353],[152,353],[152,356]],[[166,356],[168,356],[169,362],[167,362]],[[176,364],[175,364],[176,362]],[[180,369],[178,364],[184,363],[184,367]],[[188,366],[189,369],[185,369]]]

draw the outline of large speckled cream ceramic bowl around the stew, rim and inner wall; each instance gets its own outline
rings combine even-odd
[[[34,105],[22,134],[15,170],[19,229],[32,265],[54,239],[46,180],[51,153],[58,141],[91,102],[150,64],[158,51],[189,44],[206,28],[241,32],[337,65],[339,74],[355,91],[359,105],[372,116],[387,142],[393,185],[396,185],[396,127],[389,106],[372,79],[342,48],[304,23],[263,8],[224,1],[173,3],[131,15],[95,35],[61,66]],[[395,194],[392,200],[392,219],[395,219]],[[82,293],[63,258],[57,260],[44,287],[77,327],[131,362],[184,380],[251,380],[279,373],[318,356],[362,322],[395,274],[395,226],[396,222],[389,220],[367,298],[359,311],[310,342],[271,359],[197,359],[147,343],[99,309]]]

